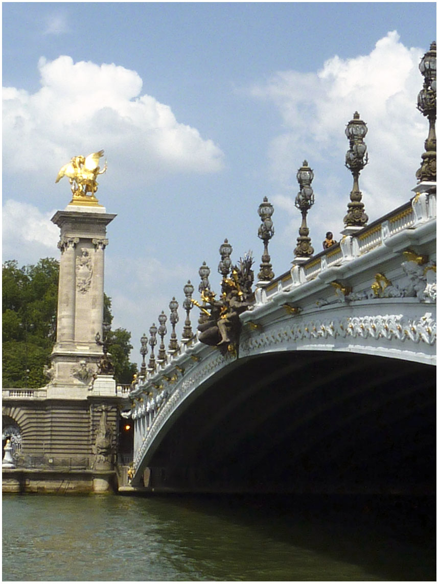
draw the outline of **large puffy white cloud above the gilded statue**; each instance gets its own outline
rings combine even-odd
[[[5,171],[47,173],[44,180],[52,182],[72,155],[99,148],[111,156],[114,178],[128,173],[131,182],[222,168],[217,145],[178,122],[168,105],[141,95],[135,71],[68,56],[40,58],[38,67],[39,91],[3,91]]]

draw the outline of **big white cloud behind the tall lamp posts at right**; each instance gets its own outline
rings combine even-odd
[[[253,96],[274,103],[283,119],[283,133],[269,145],[277,188],[294,199],[295,173],[305,158],[315,172],[311,231],[314,225],[324,232],[328,223],[334,232],[343,228],[352,185],[350,172],[342,169],[349,148],[344,129],[355,111],[368,127],[370,162],[360,175],[360,189],[370,220],[412,196],[428,133],[427,121],[416,109],[423,53],[403,46],[393,31],[369,55],[335,56],[315,73],[278,72],[252,89]],[[298,230],[298,217],[293,221]]]

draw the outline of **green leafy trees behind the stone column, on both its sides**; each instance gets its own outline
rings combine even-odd
[[[59,270],[53,258],[23,267],[8,260],[2,266],[3,387],[47,383],[43,367],[50,364],[56,340]],[[104,295],[104,322],[111,325],[112,320],[111,299]],[[137,371],[129,360],[131,333],[120,328],[106,334],[116,381],[130,383]]]

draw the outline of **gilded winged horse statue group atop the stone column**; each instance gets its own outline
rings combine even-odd
[[[95,193],[97,191],[97,175],[102,175],[107,170],[107,162],[104,168],[100,170],[99,159],[103,156],[104,151],[92,152],[87,157],[74,156],[70,162],[62,166],[58,172],[55,183],[68,176],[73,194],[73,201],[94,201],[97,203]],[[90,193],[88,195],[87,193]],[[72,201],[72,202],[73,202]]]

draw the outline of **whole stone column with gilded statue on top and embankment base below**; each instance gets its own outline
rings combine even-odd
[[[57,339],[39,389],[3,390],[9,429],[4,492],[102,492],[117,486],[116,448],[127,394],[116,387],[103,346],[106,212],[95,193],[103,151],[62,167],[72,200],[54,214],[60,228]],[[17,451],[18,450],[18,451]],[[9,458],[9,457],[8,457]]]

